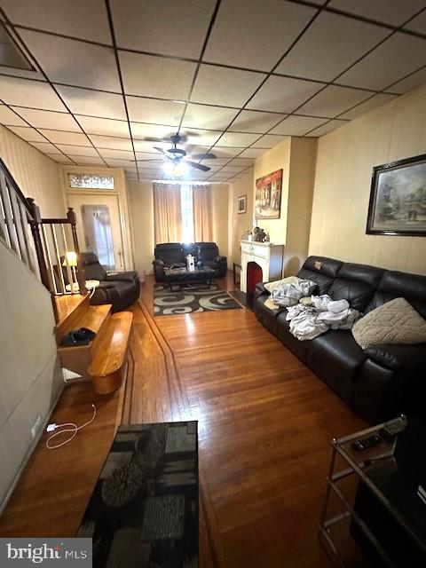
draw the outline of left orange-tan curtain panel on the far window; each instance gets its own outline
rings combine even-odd
[[[180,185],[154,184],[153,187],[155,244],[182,241]]]

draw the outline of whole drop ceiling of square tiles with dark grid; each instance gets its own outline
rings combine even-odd
[[[0,0],[34,70],[0,67],[0,123],[66,164],[166,177],[185,136],[229,182],[426,83],[425,0]]]

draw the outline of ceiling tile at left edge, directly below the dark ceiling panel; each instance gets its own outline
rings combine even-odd
[[[0,99],[8,105],[66,111],[48,83],[0,76]]]

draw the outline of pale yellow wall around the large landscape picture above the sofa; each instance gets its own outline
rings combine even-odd
[[[426,273],[426,238],[367,235],[374,166],[426,153],[426,85],[319,138],[310,254]]]

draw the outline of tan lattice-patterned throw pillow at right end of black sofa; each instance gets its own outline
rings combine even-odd
[[[352,335],[362,349],[377,343],[423,343],[426,321],[404,298],[396,298],[359,319]]]

